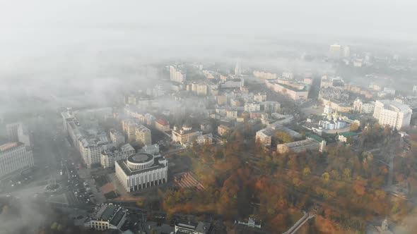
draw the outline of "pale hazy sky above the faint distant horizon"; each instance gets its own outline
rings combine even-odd
[[[174,34],[301,32],[413,35],[414,1],[1,0],[0,25],[18,28],[153,28]],[[10,31],[6,31],[10,32]]]

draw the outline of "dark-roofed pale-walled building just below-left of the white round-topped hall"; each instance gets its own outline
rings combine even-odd
[[[102,204],[96,207],[93,216],[88,217],[84,226],[95,230],[120,230],[127,218],[127,210],[113,204]]]

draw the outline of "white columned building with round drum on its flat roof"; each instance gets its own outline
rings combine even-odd
[[[160,155],[143,152],[115,162],[116,177],[127,192],[166,183],[168,161]]]

